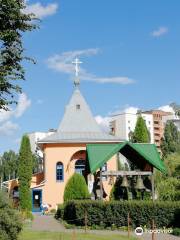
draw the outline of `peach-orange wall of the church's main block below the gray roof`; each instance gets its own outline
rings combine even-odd
[[[46,144],[44,146],[45,186],[43,187],[42,202],[50,204],[52,208],[63,203],[65,185],[74,174],[75,160],[79,158],[74,154],[81,150],[86,150],[85,144]],[[73,155],[74,157],[72,157]],[[62,182],[56,181],[56,164],[59,161],[64,164],[64,181]],[[108,161],[107,168],[108,170],[117,169],[116,156]],[[108,181],[109,179],[103,181],[103,185],[105,192],[109,195],[112,186],[108,185]]]

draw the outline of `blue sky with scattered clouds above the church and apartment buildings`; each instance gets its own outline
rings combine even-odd
[[[23,134],[56,129],[73,92],[78,57],[80,89],[101,125],[117,111],[180,103],[179,0],[29,0],[41,19],[23,35],[26,81],[18,105],[0,112],[0,154],[18,151]]]

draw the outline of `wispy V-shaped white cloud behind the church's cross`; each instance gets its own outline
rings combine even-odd
[[[84,50],[76,50],[64,52],[62,54],[55,54],[47,59],[47,65],[49,68],[66,73],[71,76],[74,75],[74,66],[72,61],[75,57],[88,57],[98,54],[98,48],[89,48]],[[116,77],[98,77],[95,74],[87,72],[84,68],[80,67],[80,79],[86,81],[93,81],[98,83],[118,83],[118,84],[131,84],[134,80],[124,76]]]

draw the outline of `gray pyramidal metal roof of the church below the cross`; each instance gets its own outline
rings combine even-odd
[[[104,133],[76,87],[56,133],[39,143],[52,142],[118,142],[120,139]]]

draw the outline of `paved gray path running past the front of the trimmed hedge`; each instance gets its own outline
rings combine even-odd
[[[46,215],[40,215],[35,214],[34,215],[34,221],[32,225],[30,226],[30,229],[32,231],[48,231],[48,232],[73,232],[73,229],[66,229],[60,222],[58,222],[54,216],[46,216]],[[76,229],[76,232],[83,232],[83,229]],[[126,235],[127,232],[123,231],[110,231],[110,230],[88,230],[88,233],[92,234],[102,234],[102,235],[112,235],[112,234],[120,234],[120,235]],[[133,233],[131,233],[132,236],[136,236]],[[143,234],[141,237],[137,237],[139,240],[151,240],[151,234],[146,233]],[[156,234],[155,240],[180,240],[180,237],[176,237],[170,234]]]

